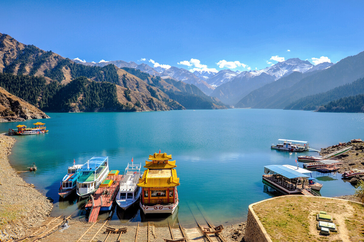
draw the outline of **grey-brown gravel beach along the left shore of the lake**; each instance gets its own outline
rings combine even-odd
[[[50,215],[53,204],[10,166],[15,139],[0,134],[0,241],[23,237]],[[26,168],[25,168],[26,169]]]

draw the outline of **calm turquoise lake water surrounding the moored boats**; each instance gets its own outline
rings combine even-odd
[[[16,170],[36,163],[36,173],[20,176],[54,199],[52,215],[68,215],[82,205],[77,198],[59,202],[60,181],[74,159],[76,164],[84,164],[92,156],[108,156],[110,170],[123,171],[132,157],[134,163],[145,165],[149,154],[160,149],[176,160],[181,222],[191,218],[188,204],[195,202],[214,224],[241,222],[249,204],[274,196],[264,189],[263,166],[296,164],[297,153],[270,149],[278,138],[309,141],[313,148],[364,138],[362,113],[228,109],[48,115],[50,119],[40,121],[50,132],[14,136],[17,142],[9,159]],[[0,132],[37,121],[0,123]],[[299,165],[302,167],[301,162]],[[312,176],[320,175],[313,172]],[[323,196],[353,194],[353,186],[340,175],[317,179],[324,184]],[[81,220],[84,216],[83,211],[74,213]],[[112,214],[114,223],[140,219],[138,207],[126,214],[119,210]]]

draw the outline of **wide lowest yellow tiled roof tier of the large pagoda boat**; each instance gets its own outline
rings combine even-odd
[[[152,170],[153,171],[153,170]],[[175,187],[179,185],[179,178],[175,169],[170,169],[170,176],[155,176],[149,174],[151,171],[147,169],[142,178],[139,178],[138,186],[140,187]]]

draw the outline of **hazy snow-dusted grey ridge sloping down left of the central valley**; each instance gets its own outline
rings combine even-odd
[[[201,80],[200,78],[195,76],[195,74],[183,68],[172,66],[171,68],[162,72],[160,76],[170,76],[175,80],[183,81],[188,84],[193,84],[197,86],[199,89],[201,89],[202,92],[206,93],[207,95],[211,94],[211,92],[214,90],[214,88],[209,84],[207,84],[206,81]]]

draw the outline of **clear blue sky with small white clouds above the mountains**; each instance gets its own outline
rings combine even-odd
[[[1,33],[88,62],[242,71],[364,51],[363,1],[0,1],[0,9]]]

